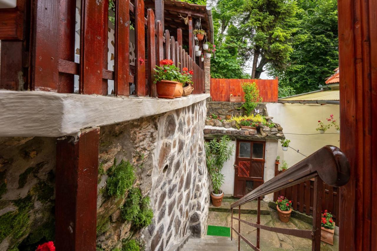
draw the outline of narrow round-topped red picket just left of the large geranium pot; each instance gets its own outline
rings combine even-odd
[[[156,65],[156,31],[155,31],[155,13],[152,9],[148,9],[148,69],[149,69],[149,95],[157,96],[155,81],[155,65]]]

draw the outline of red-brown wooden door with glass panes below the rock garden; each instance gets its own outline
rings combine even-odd
[[[241,198],[263,184],[265,142],[237,140],[233,197]]]

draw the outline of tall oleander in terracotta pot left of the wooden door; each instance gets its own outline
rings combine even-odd
[[[230,145],[229,142],[230,138],[224,135],[204,144],[208,174],[212,182],[211,200],[215,207],[221,206],[224,197],[224,192],[221,190],[221,186],[224,184],[222,167],[234,152],[234,145]]]

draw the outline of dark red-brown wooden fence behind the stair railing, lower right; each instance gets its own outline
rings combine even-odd
[[[275,167],[275,176],[282,171],[277,171]],[[322,210],[328,210],[329,213],[333,214],[333,219],[335,224],[339,226],[338,212],[339,212],[339,188],[331,187],[323,183],[322,190]],[[313,205],[314,205],[314,180],[308,180],[301,182],[300,184],[294,185],[292,187],[287,187],[278,192],[274,193],[274,201],[277,200],[279,196],[287,197],[287,199],[292,200],[293,210],[305,213],[308,215],[313,215]]]

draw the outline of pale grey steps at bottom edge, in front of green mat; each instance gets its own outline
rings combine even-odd
[[[237,242],[230,237],[206,235],[201,239],[189,239],[180,250],[232,251],[238,250]]]

